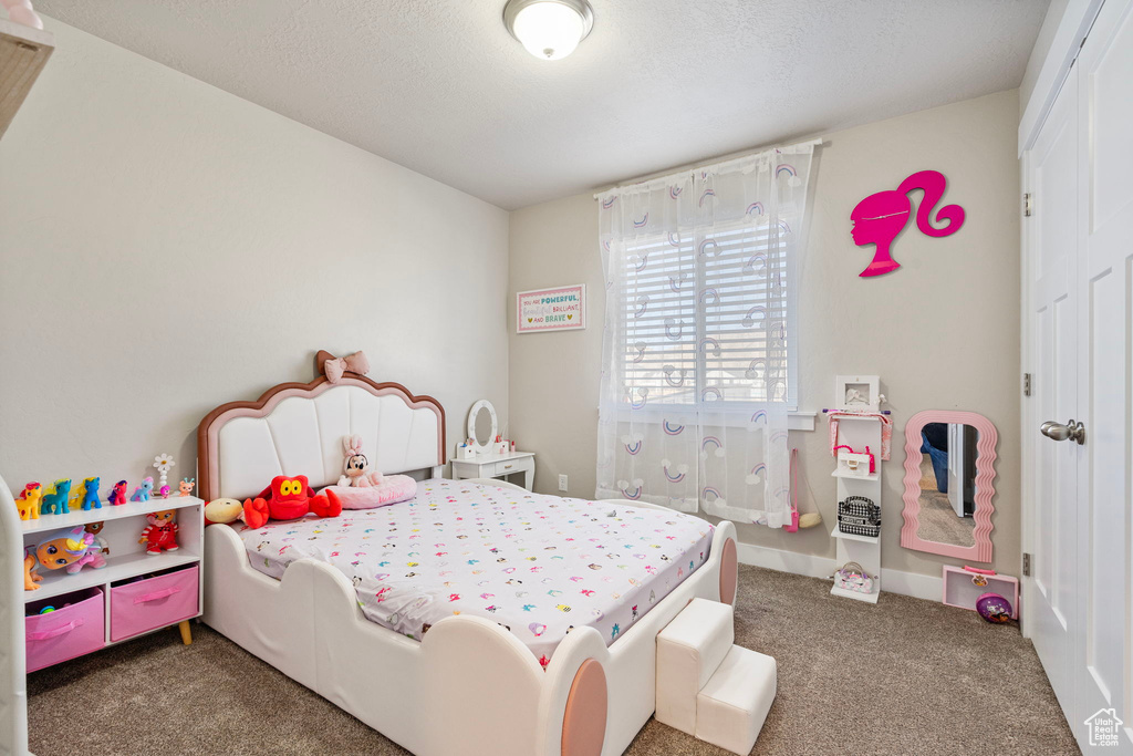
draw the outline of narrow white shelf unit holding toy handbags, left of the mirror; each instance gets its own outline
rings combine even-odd
[[[836,413],[863,413],[861,416],[840,415],[837,439],[833,444],[850,447],[857,453],[838,449],[836,465],[832,475],[837,481],[837,500],[845,501],[847,496],[864,496],[881,506],[881,419],[880,404],[885,397],[878,392],[879,379],[876,375],[840,375],[835,382]],[[871,413],[871,414],[864,414]],[[869,456],[866,448],[874,455],[874,472],[869,472]],[[883,508],[884,513],[884,508]],[[836,584],[830,588],[835,596],[845,596],[871,604],[877,603],[881,593],[881,537],[844,533],[841,521],[835,518],[830,537],[836,543],[837,568],[847,562],[858,562],[872,578],[870,593],[858,593]]]

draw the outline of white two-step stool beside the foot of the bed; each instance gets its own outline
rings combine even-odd
[[[658,722],[747,755],[775,700],[775,660],[733,645],[732,608],[693,598],[657,634]]]

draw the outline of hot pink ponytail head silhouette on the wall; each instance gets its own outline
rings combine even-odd
[[[917,228],[921,233],[939,237],[960,230],[964,224],[964,209],[960,205],[945,205],[936,214],[936,222],[944,222],[943,227],[935,228],[929,222],[932,210],[944,196],[946,185],[947,181],[940,171],[917,171],[902,181],[896,192],[878,192],[858,203],[850,213],[850,220],[853,221],[850,236],[859,247],[868,244],[877,245],[874,262],[858,275],[861,278],[881,275],[901,267],[901,264],[889,256],[889,246],[909,223],[909,214],[912,212],[909,193],[913,189],[925,190],[925,196],[917,207]]]

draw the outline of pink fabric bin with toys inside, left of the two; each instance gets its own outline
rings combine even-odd
[[[67,603],[70,606],[63,606]],[[105,600],[101,588],[43,598],[29,604],[28,609],[39,612],[44,606],[56,606],[56,611],[24,618],[28,672],[107,645]]]

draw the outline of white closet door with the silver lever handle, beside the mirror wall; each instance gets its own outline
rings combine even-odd
[[[1028,154],[1033,215],[1028,233],[1028,303],[1032,397],[1025,400],[1032,521],[1032,568],[1024,602],[1028,631],[1058,703],[1076,716],[1072,674],[1077,592],[1079,447],[1040,433],[1050,421],[1077,418],[1077,67]],[[1083,352],[1085,354],[1085,352]],[[1057,435],[1057,434],[1056,434]]]

